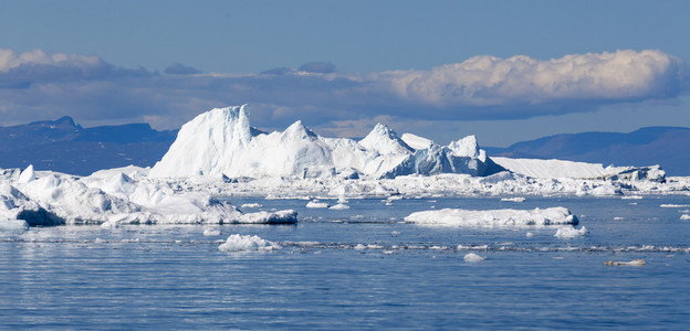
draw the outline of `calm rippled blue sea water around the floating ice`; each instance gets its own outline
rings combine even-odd
[[[0,328],[690,329],[690,221],[680,220],[690,207],[660,207],[690,196],[352,200],[343,211],[229,200],[295,209],[301,222],[1,236]],[[550,206],[571,209],[588,234],[402,222],[431,207]],[[220,235],[205,236],[209,227]],[[231,234],[283,248],[220,252]],[[487,259],[466,263],[470,252]],[[636,258],[647,265],[604,265]]]

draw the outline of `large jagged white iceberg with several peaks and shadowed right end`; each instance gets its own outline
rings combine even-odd
[[[320,137],[301,121],[282,132],[251,132],[247,105],[201,114],[182,126],[150,177],[378,179],[414,173],[488,175],[504,170],[479,149],[474,136],[441,147],[408,135],[415,140],[415,149],[383,124],[360,141]]]

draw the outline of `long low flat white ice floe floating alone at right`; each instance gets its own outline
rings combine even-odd
[[[411,213],[405,221],[421,225],[477,227],[541,227],[578,223],[577,217],[565,207],[489,211],[443,209]]]

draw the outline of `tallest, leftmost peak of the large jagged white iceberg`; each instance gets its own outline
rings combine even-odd
[[[150,175],[220,174],[216,172],[230,167],[234,151],[247,147],[252,139],[249,113],[249,106],[242,105],[215,108],[195,117],[182,126]]]

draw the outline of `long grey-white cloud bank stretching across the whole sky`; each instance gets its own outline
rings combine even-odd
[[[0,49],[0,125],[71,115],[82,122],[148,121],[176,128],[212,107],[252,105],[252,122],[281,128],[400,120],[493,120],[592,111],[670,99],[684,64],[660,51],[616,51],[540,61],[482,55],[429,71],[337,73],[327,62],[259,74],[209,73],[175,64],[128,70],[95,55]]]

